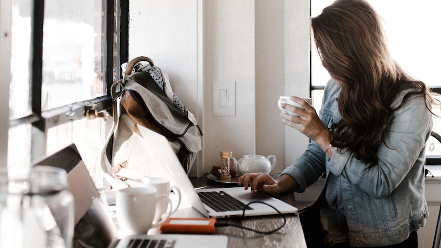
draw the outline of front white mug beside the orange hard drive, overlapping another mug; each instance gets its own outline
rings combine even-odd
[[[124,235],[146,234],[152,227],[158,227],[170,217],[167,215],[155,221],[155,213],[160,202],[168,202],[170,198],[158,195],[155,188],[138,187],[124,188],[116,192],[116,216],[121,232]]]

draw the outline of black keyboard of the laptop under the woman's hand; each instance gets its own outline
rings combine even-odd
[[[204,204],[216,212],[243,211],[246,207],[241,201],[224,191],[197,192],[197,194]],[[252,208],[248,206],[247,210],[252,210]]]

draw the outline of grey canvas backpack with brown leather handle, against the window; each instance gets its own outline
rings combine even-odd
[[[112,167],[127,161],[127,168],[144,175],[142,137],[137,125],[162,134],[170,143],[185,172],[191,170],[202,149],[202,131],[193,114],[173,93],[168,75],[148,57],[137,57],[121,66],[122,80],[111,88],[114,123],[101,154],[107,181],[116,183]],[[150,141],[151,142],[151,141]]]

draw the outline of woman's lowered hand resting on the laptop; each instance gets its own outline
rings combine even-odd
[[[245,173],[238,178],[237,185],[244,186],[245,190],[251,186],[251,193],[257,191],[267,192],[271,195],[280,194],[280,190],[275,181],[268,173]]]

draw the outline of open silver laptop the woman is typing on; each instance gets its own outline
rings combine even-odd
[[[197,212],[201,213],[204,217],[211,218],[227,218],[234,216],[241,216],[245,205],[250,201],[260,201],[265,204],[255,203],[249,206],[245,211],[245,216],[262,216],[262,215],[274,215],[278,214],[277,210],[282,214],[296,213],[298,209],[286,202],[279,200],[269,194],[263,192],[256,192],[251,194],[251,189],[245,190],[243,187],[228,187],[228,188],[215,188],[215,189],[200,189],[194,190],[193,185],[190,182],[187,174],[182,169],[179,160],[172,148],[170,147],[167,139],[160,134],[151,131],[148,128],[138,126],[141,134],[141,140],[143,142],[139,145],[131,146],[133,149],[131,154],[138,154],[137,161],[149,161],[147,164],[143,164],[143,168],[140,170],[148,173],[148,176],[165,176],[170,178],[170,185],[177,186],[181,189],[182,201],[187,201],[187,204],[194,208]],[[145,142],[149,141],[149,142]],[[151,141],[151,142],[150,142]],[[139,151],[136,149],[140,149]],[[146,152],[148,150],[148,152]],[[142,154],[142,155],[141,155]],[[144,156],[144,157],[143,157]],[[127,164],[127,168],[130,168],[130,157]],[[127,172],[129,170],[126,170]],[[126,177],[127,174],[119,174]],[[221,196],[229,195],[235,198],[234,201],[241,202],[242,207],[236,210],[219,211],[217,207],[208,206],[209,202],[205,199],[202,200],[200,196],[203,194],[215,194],[217,192]],[[213,197],[217,198],[219,196]],[[270,206],[268,206],[268,205]],[[272,207],[271,207],[272,206]],[[277,210],[275,210],[275,209]]]

